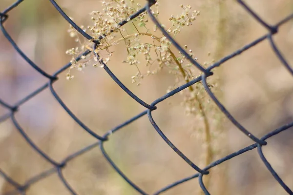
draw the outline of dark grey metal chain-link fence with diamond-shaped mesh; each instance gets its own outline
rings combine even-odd
[[[186,56],[186,58],[194,65],[196,66],[201,72],[202,75],[191,80],[190,82],[174,89],[173,91],[167,93],[166,95],[156,99],[155,101],[153,101],[150,104],[147,104],[146,102],[144,102],[141,98],[138,98],[136,95],[134,95],[131,91],[129,91],[126,86],[111,72],[111,70],[107,67],[107,65],[101,60],[100,63],[101,65],[103,65],[105,71],[108,73],[108,75],[131,97],[133,98],[135,101],[137,101],[138,103],[140,103],[142,106],[144,106],[146,108],[146,110],[128,120],[126,120],[124,123],[119,124],[118,126],[116,126],[115,128],[109,130],[108,132],[105,133],[105,135],[100,136],[97,135],[94,131],[92,131],[91,129],[89,129],[78,117],[76,117],[71,111],[70,109],[65,105],[65,103],[63,102],[63,100],[58,96],[58,94],[56,93],[56,91],[54,90],[53,87],[53,83],[55,81],[58,80],[58,75],[60,73],[62,73],[63,71],[65,71],[66,69],[68,69],[71,66],[71,63],[67,63],[65,64],[61,69],[57,70],[55,73],[53,73],[52,75],[44,72],[38,65],[36,65],[31,59],[29,59],[22,51],[21,49],[18,47],[18,45],[14,42],[14,40],[10,37],[10,35],[7,33],[7,31],[5,30],[3,24],[4,22],[8,19],[8,13],[12,10],[15,9],[21,2],[23,2],[24,0],[17,0],[15,3],[13,3],[10,7],[8,7],[7,9],[5,9],[4,11],[0,12],[0,28],[2,33],[4,34],[4,36],[6,37],[6,39],[8,39],[8,41],[12,44],[12,46],[15,48],[15,50],[21,55],[21,57],[23,59],[25,59],[25,61],[27,61],[29,63],[29,65],[31,65],[36,71],[38,71],[40,74],[42,74],[42,76],[48,78],[48,82],[43,84],[40,88],[38,88],[37,90],[35,90],[34,92],[32,92],[31,94],[29,94],[27,97],[22,98],[21,100],[19,100],[17,103],[15,103],[14,105],[9,105],[7,103],[5,103],[4,101],[2,101],[0,99],[0,105],[4,108],[6,108],[9,112],[3,116],[0,117],[0,122],[3,122],[6,119],[11,119],[13,124],[15,125],[15,127],[17,128],[17,130],[19,131],[19,133],[21,134],[21,136],[27,141],[27,143],[37,152],[39,153],[45,160],[47,160],[48,162],[50,162],[53,165],[53,168],[46,170],[42,173],[40,173],[37,176],[34,176],[30,179],[28,179],[24,184],[20,184],[18,182],[16,182],[13,178],[11,178],[9,175],[5,174],[1,169],[0,169],[0,176],[2,176],[7,182],[9,182],[12,186],[15,187],[15,190],[8,192],[4,195],[16,195],[16,194],[21,194],[21,195],[25,195],[26,194],[26,189],[28,189],[31,185],[33,185],[34,183],[45,179],[46,177],[57,173],[61,182],[64,184],[64,186],[68,189],[68,191],[72,194],[72,195],[77,195],[77,193],[75,192],[74,188],[72,186],[70,186],[70,184],[66,181],[66,178],[63,176],[63,169],[66,167],[66,163],[69,162],[70,160],[79,157],[80,155],[86,153],[87,151],[91,150],[92,148],[95,147],[99,147],[101,152],[103,153],[103,155],[105,156],[105,159],[108,161],[108,163],[115,169],[115,171],[122,176],[125,181],[132,186],[139,194],[142,195],[148,195],[148,193],[146,193],[143,189],[141,189],[139,186],[137,186],[132,180],[130,180],[120,169],[119,167],[116,166],[115,162],[107,155],[105,149],[104,149],[104,143],[105,141],[108,140],[108,136],[110,134],[115,133],[116,131],[122,129],[123,127],[125,127],[126,125],[128,125],[129,123],[135,121],[136,119],[140,118],[140,117],[144,117],[147,115],[150,123],[152,124],[152,126],[154,127],[154,129],[157,131],[157,133],[165,140],[165,142],[169,145],[169,147],[171,147],[174,152],[177,153],[178,156],[180,156],[181,158],[183,158],[183,160],[185,160],[188,165],[190,165],[194,170],[196,170],[198,173],[192,176],[188,176],[186,178],[174,181],[174,183],[169,184],[168,186],[158,190],[156,193],[154,193],[153,195],[159,195],[167,190],[172,189],[173,187],[180,185],[186,181],[189,181],[191,179],[195,179],[198,178],[198,182],[200,184],[200,187],[202,189],[202,191],[206,194],[209,195],[209,191],[206,189],[205,184],[203,182],[203,177],[205,175],[209,174],[209,169],[235,157],[238,155],[241,155],[245,152],[248,152],[250,150],[253,150],[255,148],[257,148],[257,152],[259,154],[259,157],[261,158],[261,160],[263,161],[263,163],[265,164],[265,166],[267,167],[268,171],[271,172],[272,176],[275,178],[276,182],[278,182],[281,187],[290,195],[293,195],[293,191],[283,182],[283,180],[277,175],[277,173],[274,171],[274,169],[272,168],[270,162],[267,161],[266,157],[264,156],[263,152],[262,152],[262,147],[267,145],[267,141],[266,139],[268,139],[269,137],[273,137],[285,130],[290,129],[291,127],[293,127],[293,122],[288,123],[284,126],[279,127],[278,129],[273,130],[272,132],[264,135],[261,138],[255,137],[250,131],[248,131],[246,128],[244,128],[230,113],[229,111],[224,107],[224,105],[214,96],[214,94],[211,92],[211,90],[209,89],[208,83],[207,83],[207,78],[212,76],[213,73],[211,72],[215,67],[219,67],[220,65],[222,65],[224,62],[226,62],[229,59],[234,58],[237,55],[240,55],[242,52],[250,49],[251,47],[255,46],[256,44],[262,42],[263,40],[269,40],[272,50],[274,52],[274,54],[278,57],[278,59],[281,61],[281,63],[284,65],[284,67],[291,73],[291,75],[293,76],[293,69],[292,67],[289,65],[289,63],[286,61],[286,59],[282,56],[281,52],[278,50],[277,46],[274,43],[273,40],[273,35],[278,33],[278,28],[283,25],[284,23],[288,22],[289,20],[293,19],[293,14],[289,15],[288,17],[284,18],[283,20],[279,21],[278,23],[274,24],[274,25],[270,25],[268,23],[266,23],[264,20],[262,20],[255,12],[252,11],[252,9],[243,1],[243,0],[237,0],[237,2],[248,12],[248,14],[253,17],[260,25],[264,26],[267,30],[268,30],[268,34],[260,37],[259,39],[254,40],[253,42],[245,45],[243,48],[233,52],[232,54],[220,59],[219,61],[213,63],[212,65],[210,65],[208,68],[204,68],[202,65],[200,65],[197,61],[195,61],[194,59],[192,59],[188,53],[166,32],[166,30],[162,27],[162,25],[159,23],[159,21],[154,17],[154,15],[152,14],[150,7],[156,3],[156,0],[147,0],[148,2],[146,3],[146,6],[144,8],[142,8],[141,10],[139,10],[137,13],[133,14],[130,19],[134,19],[136,18],[138,15],[140,15],[143,12],[147,12],[150,19],[157,25],[157,27],[162,31],[162,33],[164,34],[164,36],[167,37],[167,39],[169,39],[169,41],[172,42],[172,44],[182,53]],[[87,33],[85,33],[76,23],[74,23],[74,21],[72,21],[61,9],[61,7],[56,3],[55,0],[50,0],[50,2],[54,5],[54,7],[58,10],[58,12],[63,16],[63,18],[65,20],[67,20],[80,34],[82,34],[86,39],[91,40],[94,43],[94,49],[97,47],[97,45],[100,44],[100,40],[103,39],[103,37],[100,37],[99,39],[93,39],[90,35],[88,35]],[[129,21],[129,20],[128,20]],[[125,25],[127,22],[127,20],[124,20],[120,23],[120,26]],[[79,57],[76,58],[76,61],[79,61],[82,56],[87,56],[88,54],[90,54],[92,51],[91,50],[86,50],[83,54],[81,54]],[[97,53],[95,53],[94,55],[96,55],[99,59],[99,56]],[[164,135],[164,133],[161,131],[161,129],[159,128],[159,126],[156,124],[155,120],[152,117],[152,112],[154,110],[156,110],[156,105],[161,102],[166,100],[167,98],[179,93],[180,91],[188,88],[189,86],[197,83],[197,82],[202,82],[206,92],[208,93],[209,97],[214,101],[214,103],[219,107],[219,109],[223,112],[223,114],[238,128],[238,130],[240,130],[242,133],[244,133],[248,138],[250,138],[251,140],[253,140],[255,143],[245,147],[237,152],[234,152],[228,156],[225,156],[221,159],[218,159],[214,162],[212,162],[211,164],[209,164],[208,166],[204,167],[204,168],[200,168],[198,167],[195,163],[193,163],[191,160],[188,159],[187,156],[185,156],[179,149],[177,149],[177,147]],[[35,96],[37,96],[39,93],[41,93],[44,89],[49,88],[52,95],[56,98],[56,100],[60,103],[60,105],[63,107],[63,109],[68,113],[68,115],[70,115],[70,117],[72,117],[87,133],[89,133],[90,135],[92,135],[93,137],[95,137],[98,141],[94,144],[88,145],[87,147],[83,148],[80,151],[77,151],[76,153],[71,154],[70,156],[67,156],[63,159],[63,161],[61,162],[57,162],[54,159],[52,159],[50,156],[48,156],[46,153],[44,153],[31,139],[30,137],[23,131],[23,129],[21,128],[21,125],[18,123],[17,119],[15,118],[15,113],[20,109],[21,105],[24,104],[26,101],[28,101],[30,98],[33,98]]]

